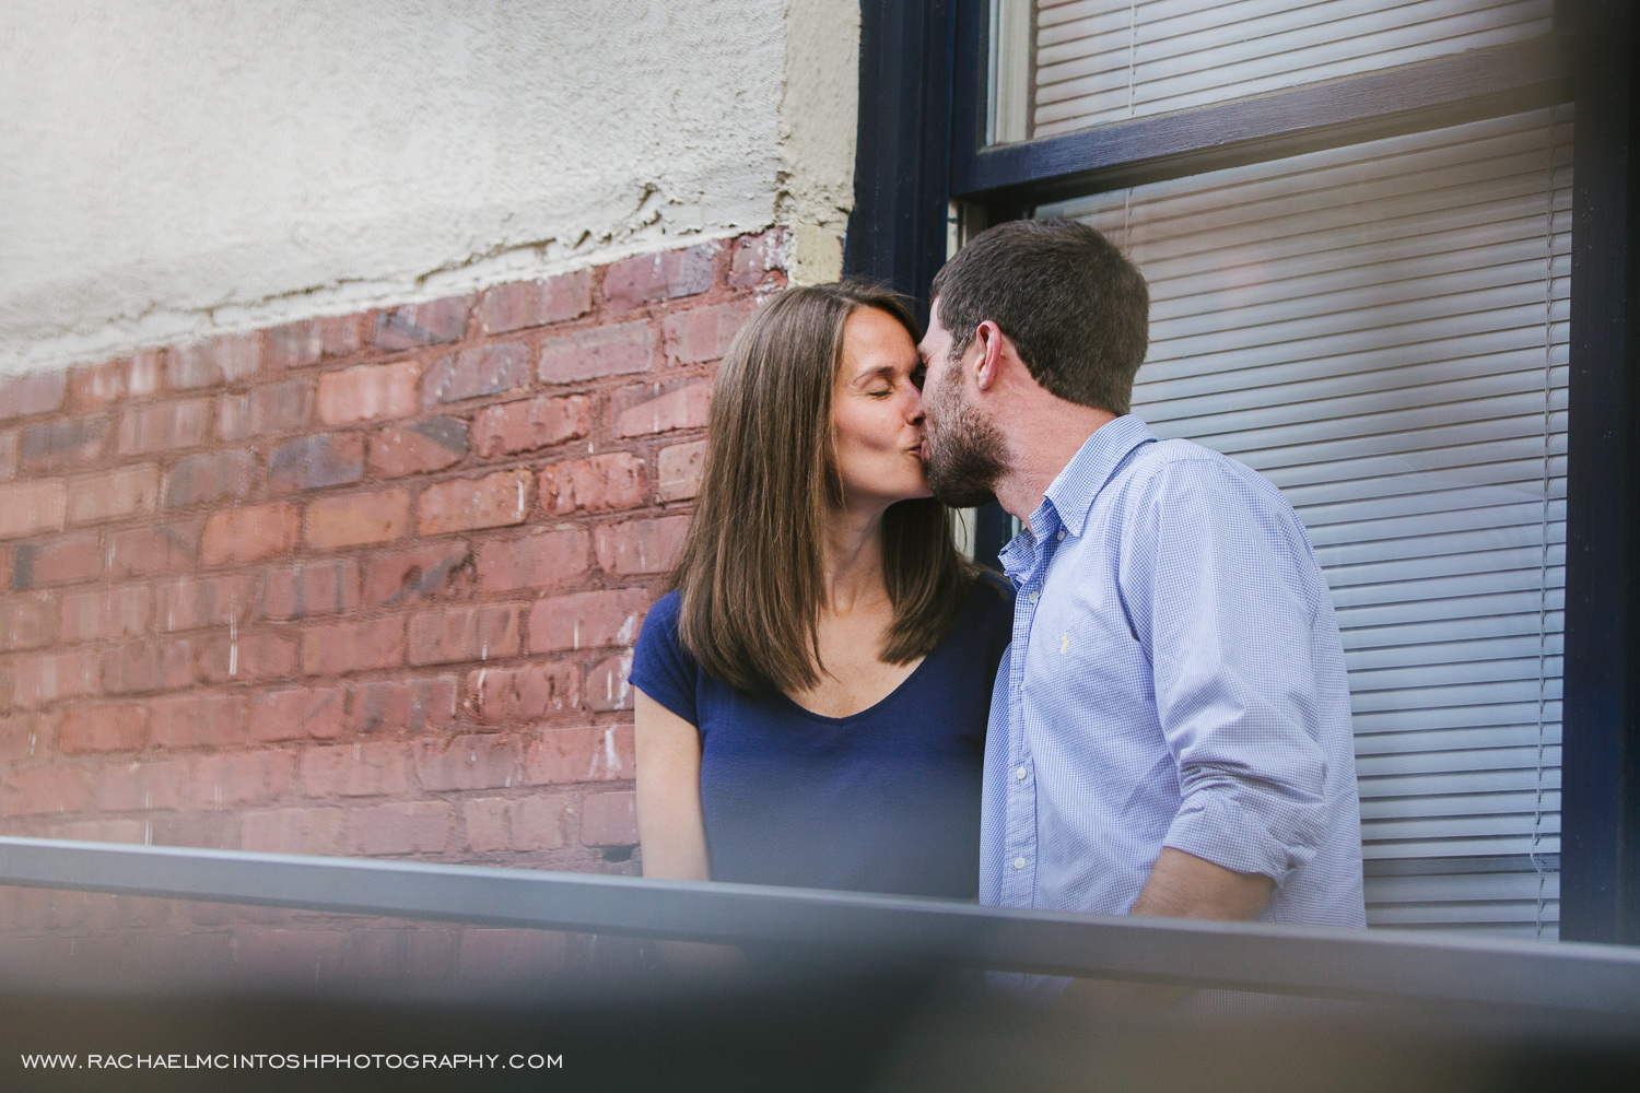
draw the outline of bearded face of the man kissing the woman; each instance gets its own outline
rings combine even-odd
[[[951,333],[940,323],[940,302],[928,315],[928,333],[917,352],[923,379],[923,470],[933,495],[953,508],[973,508],[995,500],[997,480],[1007,469],[1002,433],[968,397],[964,359],[977,352],[971,341],[953,359]]]

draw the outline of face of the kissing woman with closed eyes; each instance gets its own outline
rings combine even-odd
[[[922,361],[905,328],[877,308],[843,326],[843,367],[831,393],[831,431],[850,508],[930,497],[922,459]]]

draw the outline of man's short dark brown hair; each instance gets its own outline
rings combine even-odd
[[[1150,346],[1145,275],[1074,220],[1010,220],[974,236],[933,279],[953,354],[991,320],[1050,393],[1128,411]]]

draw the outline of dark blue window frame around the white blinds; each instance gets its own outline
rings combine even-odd
[[[1576,103],[1561,759],[1561,937],[1640,944],[1640,18],[1556,0],[1543,38],[982,146],[987,0],[863,0],[845,270],[918,300],[948,210],[973,224],[1102,188]],[[977,552],[1007,516],[987,506]]]

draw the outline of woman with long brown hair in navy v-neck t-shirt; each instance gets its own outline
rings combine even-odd
[[[789,290],[735,338],[633,659],[646,877],[963,896],[1010,636],[920,459],[915,320]]]

